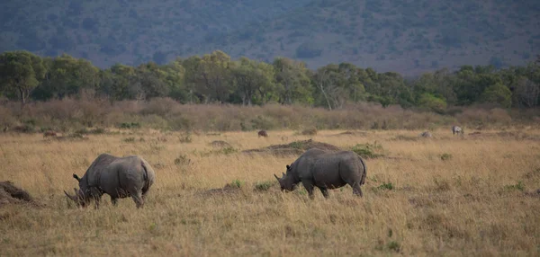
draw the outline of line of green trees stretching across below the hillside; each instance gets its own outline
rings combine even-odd
[[[166,65],[116,64],[105,69],[67,54],[41,58],[28,51],[9,51],[0,55],[0,96],[24,104],[77,97],[83,92],[112,102],[170,97],[182,103],[279,102],[329,110],[354,102],[437,112],[479,103],[535,108],[540,101],[540,57],[527,66],[461,66],[405,78],[350,63],[311,70],[291,58],[275,58],[272,63],[233,60],[220,50],[176,58]]]

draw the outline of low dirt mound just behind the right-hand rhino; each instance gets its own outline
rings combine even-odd
[[[294,141],[286,145],[273,145],[258,149],[249,149],[242,151],[243,154],[268,154],[276,156],[302,155],[308,149],[318,148],[327,151],[340,151],[338,146],[332,146],[327,143],[309,140]]]

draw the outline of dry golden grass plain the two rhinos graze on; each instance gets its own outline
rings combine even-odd
[[[0,135],[0,181],[45,205],[0,207],[0,255],[540,254],[540,198],[529,193],[540,189],[540,131],[452,137],[446,129],[432,139],[417,139],[421,131],[334,136],[339,132],[312,138],[344,148],[374,141],[384,147],[384,157],[366,160],[363,199],[348,186],[330,199],[320,191],[314,200],[302,190],[282,193],[273,173],[296,156],[224,155],[210,145],[224,140],[244,150],[310,138],[294,131],[193,135],[191,143],[157,131],[86,141]],[[131,199],[112,207],[107,196],[99,209],[67,201],[63,190],[76,186],[71,173],[82,175],[103,152],[141,155],[153,165],[157,182],[145,208]],[[451,156],[442,160],[444,154]],[[179,156],[191,163],[175,164]],[[239,191],[207,192],[234,180],[244,182]],[[257,182],[273,187],[254,191]],[[392,190],[381,187],[388,183]]]

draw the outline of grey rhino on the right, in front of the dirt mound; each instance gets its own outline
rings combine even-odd
[[[282,191],[293,191],[296,184],[302,185],[313,199],[313,189],[318,187],[325,198],[329,189],[337,189],[349,184],[353,193],[363,197],[360,186],[365,183],[367,168],[364,160],[352,151],[328,152],[311,148],[293,164],[287,165],[287,173],[275,178]]]

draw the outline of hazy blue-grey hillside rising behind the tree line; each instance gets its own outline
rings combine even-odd
[[[414,75],[521,65],[540,53],[536,0],[10,0],[0,4],[0,28],[0,51],[67,52],[102,67],[222,49]]]

